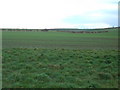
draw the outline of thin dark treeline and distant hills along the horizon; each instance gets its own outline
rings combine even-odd
[[[106,29],[120,29],[120,27],[110,28],[97,28],[97,29],[77,29],[77,28],[54,28],[54,29],[13,29],[13,28],[1,28],[2,31],[94,31],[94,30],[106,30]]]

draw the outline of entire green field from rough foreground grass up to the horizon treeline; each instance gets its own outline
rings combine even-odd
[[[2,32],[3,88],[118,88],[118,30]]]

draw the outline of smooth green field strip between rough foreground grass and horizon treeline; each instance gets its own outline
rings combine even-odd
[[[108,33],[3,32],[3,48],[117,49],[117,30]]]

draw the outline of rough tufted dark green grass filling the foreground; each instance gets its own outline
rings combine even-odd
[[[3,50],[3,88],[117,88],[117,50]]]

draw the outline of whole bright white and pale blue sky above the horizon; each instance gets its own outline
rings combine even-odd
[[[0,0],[0,28],[118,26],[119,0]]]

